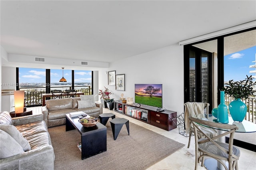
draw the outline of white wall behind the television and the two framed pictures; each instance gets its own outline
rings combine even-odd
[[[119,99],[134,98],[134,84],[156,83],[163,85],[163,107],[184,112],[184,76],[183,76],[183,46],[178,44],[132,56],[124,60],[110,63],[108,71],[116,70],[116,74],[125,74],[125,91],[116,91],[115,86],[108,86],[108,74],[105,70],[99,72],[99,89],[108,87]]]

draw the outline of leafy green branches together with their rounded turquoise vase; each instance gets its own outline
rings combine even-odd
[[[233,96],[234,101],[229,103],[228,110],[234,121],[242,122],[247,113],[247,106],[241,101],[242,98],[247,99],[250,95],[253,95],[253,86],[256,82],[252,81],[252,75],[241,81],[230,80],[225,83],[225,87],[222,89],[225,94]]]

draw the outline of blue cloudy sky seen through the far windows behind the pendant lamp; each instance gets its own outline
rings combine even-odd
[[[62,69],[51,69],[51,83],[58,83],[62,78]],[[71,83],[72,71],[64,69],[64,78]],[[45,83],[45,69],[19,68],[19,83]],[[92,71],[75,70],[75,83],[92,82]]]

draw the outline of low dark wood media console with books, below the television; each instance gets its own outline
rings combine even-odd
[[[176,121],[176,119],[174,119],[177,116],[177,112],[175,111],[164,111],[164,112],[158,112],[156,111],[156,107],[151,107],[151,106],[147,106],[147,105],[141,105],[139,106],[137,103],[133,103],[133,104],[127,104],[127,103],[121,103],[118,101],[115,101],[115,107],[114,107],[114,111],[124,114],[126,116],[130,116],[134,119],[138,119],[142,122],[148,123],[150,125],[162,128],[164,130],[172,130],[174,128],[176,128],[176,124],[174,123],[174,121]],[[132,114],[131,112],[127,113],[128,109],[134,108],[134,114]],[[135,112],[137,111],[142,111],[145,114],[148,114],[147,119],[143,119],[138,117],[139,114],[135,114]],[[141,115],[140,115],[141,116]],[[172,120],[174,119],[174,120]]]

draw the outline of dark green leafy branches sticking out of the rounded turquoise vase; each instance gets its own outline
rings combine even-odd
[[[256,82],[252,81],[252,76],[248,77],[246,75],[246,77],[243,81],[230,80],[228,83],[225,83],[226,88],[224,87],[222,90],[225,91],[225,94],[234,96],[236,99],[247,99],[249,95],[253,94],[252,86],[256,85]]]

